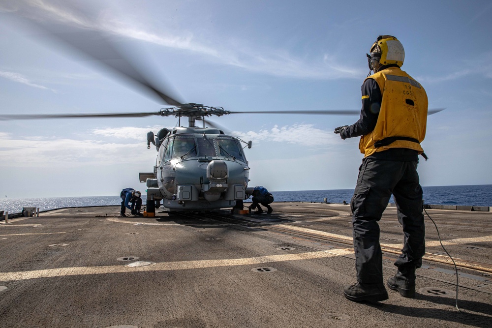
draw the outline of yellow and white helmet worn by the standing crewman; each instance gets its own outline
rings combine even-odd
[[[370,47],[368,57],[369,74],[370,71],[377,72],[383,65],[397,64],[403,66],[405,60],[405,50],[398,39],[392,35],[379,35],[376,42]]]

